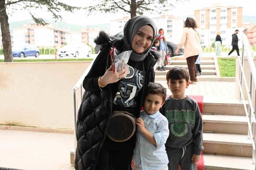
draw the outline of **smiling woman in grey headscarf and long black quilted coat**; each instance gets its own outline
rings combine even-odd
[[[125,24],[124,37],[113,39],[100,32],[94,40],[101,52],[84,78],[82,103],[78,111],[75,156],[76,170],[128,170],[131,167],[135,135],[125,142],[107,136],[113,111],[127,111],[139,117],[149,82],[154,82],[154,65],[160,57],[151,50],[157,27],[146,16]],[[127,69],[113,73],[109,51],[130,52]],[[127,73],[127,75],[125,75]]]

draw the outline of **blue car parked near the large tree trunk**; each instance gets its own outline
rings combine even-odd
[[[27,45],[12,47],[12,55],[13,57],[28,57],[28,56],[39,57],[40,53],[37,46],[32,44],[27,44]]]

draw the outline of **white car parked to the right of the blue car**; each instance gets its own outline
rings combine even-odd
[[[65,57],[65,56],[91,56],[91,47],[86,45],[85,43],[78,43],[78,44],[67,44],[64,47],[61,47],[57,51],[58,57]]]

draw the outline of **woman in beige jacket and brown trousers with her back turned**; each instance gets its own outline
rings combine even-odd
[[[184,45],[184,57],[187,60],[188,72],[190,76],[190,84],[199,81],[196,70],[196,59],[200,53],[200,38],[196,31],[196,22],[193,18],[188,17],[184,23],[184,29],[181,41],[175,54],[178,54],[180,48]]]

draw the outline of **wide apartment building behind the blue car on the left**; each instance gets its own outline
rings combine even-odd
[[[53,26],[27,25],[13,29],[13,45],[34,44],[39,47],[60,47],[71,43],[71,32]]]

